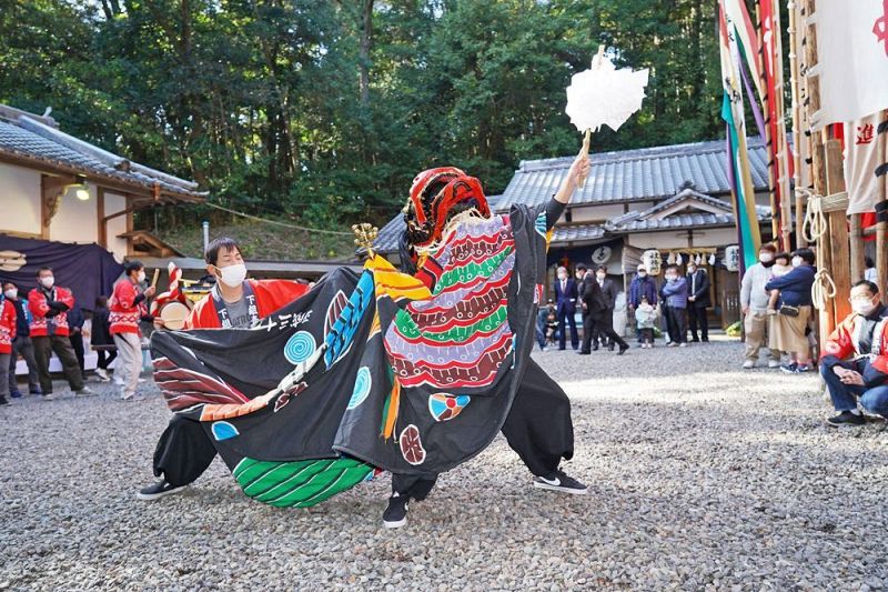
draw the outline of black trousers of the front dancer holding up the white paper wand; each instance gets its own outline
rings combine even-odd
[[[503,424],[503,435],[527,469],[537,476],[552,475],[562,459],[574,456],[574,424],[571,400],[533,360],[515,393]],[[392,474],[392,491],[423,500],[437,475]]]

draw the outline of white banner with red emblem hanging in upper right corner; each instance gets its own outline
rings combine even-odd
[[[811,126],[854,121],[888,109],[888,0],[818,0],[820,109]]]

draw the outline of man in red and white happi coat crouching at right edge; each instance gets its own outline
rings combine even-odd
[[[836,327],[820,357],[833,407],[833,427],[862,425],[869,413],[888,418],[888,307],[879,301],[878,287],[860,280],[851,287],[852,312]]]

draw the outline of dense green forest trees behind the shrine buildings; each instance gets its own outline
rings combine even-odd
[[[594,151],[720,133],[703,0],[8,0],[0,102],[52,106],[220,203],[332,229],[386,221],[427,167],[495,194],[519,160],[576,152],[564,90],[598,43],[652,72],[643,111]]]

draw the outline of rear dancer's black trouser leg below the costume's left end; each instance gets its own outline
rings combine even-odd
[[[200,421],[173,415],[154,449],[154,476],[173,486],[188,485],[210,466],[215,446]]]

